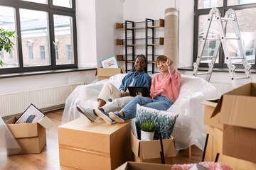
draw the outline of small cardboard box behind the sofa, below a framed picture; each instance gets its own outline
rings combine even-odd
[[[98,80],[110,79],[115,74],[126,73],[124,67],[120,68],[97,68],[95,76]]]

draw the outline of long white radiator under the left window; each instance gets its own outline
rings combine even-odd
[[[26,111],[33,103],[36,108],[43,112],[53,110],[55,106],[65,106],[65,101],[76,86],[83,83],[53,86],[33,91],[23,91],[15,94],[4,94],[0,96],[0,115],[6,117],[17,115]]]

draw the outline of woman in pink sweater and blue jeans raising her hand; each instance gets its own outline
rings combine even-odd
[[[161,74],[157,74],[152,79],[151,97],[143,97],[139,93],[118,113],[110,112],[109,116],[105,114],[99,116],[106,122],[115,120],[118,123],[124,123],[124,120],[135,118],[137,104],[148,108],[155,108],[159,111],[166,111],[176,101],[181,84],[181,74],[177,72],[173,63],[172,60],[164,55],[156,58],[156,67]]]

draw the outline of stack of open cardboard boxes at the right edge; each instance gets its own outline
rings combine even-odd
[[[204,101],[203,123],[209,134],[206,161],[233,169],[256,169],[256,84],[240,86],[219,100]]]

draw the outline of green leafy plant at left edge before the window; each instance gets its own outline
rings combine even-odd
[[[14,50],[14,42],[11,41],[11,38],[18,37],[17,35],[14,35],[14,33],[15,32],[0,28],[0,51],[4,49],[6,52],[10,53],[11,50]],[[3,66],[3,64],[3,61],[0,59],[0,65]]]

